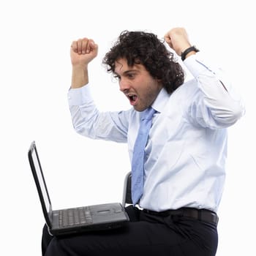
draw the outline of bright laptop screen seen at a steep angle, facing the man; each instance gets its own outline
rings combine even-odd
[[[34,163],[34,170],[37,173],[39,189],[41,190],[42,197],[43,197],[42,199],[45,202],[46,211],[49,213],[51,210],[50,209],[50,199],[48,196],[48,191],[46,189],[45,178],[43,177],[43,174],[42,174],[41,165],[39,162],[39,158],[38,158],[38,154],[37,154],[37,150],[36,150],[35,146],[34,146],[33,150],[31,151],[31,157],[32,157],[33,163]]]

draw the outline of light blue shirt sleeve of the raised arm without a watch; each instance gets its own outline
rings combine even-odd
[[[93,139],[127,142],[130,110],[99,112],[91,97],[90,85],[69,89],[67,97],[76,132]]]

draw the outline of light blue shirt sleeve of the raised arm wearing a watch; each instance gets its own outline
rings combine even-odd
[[[204,63],[196,55],[184,64],[197,81],[198,93],[192,101],[190,115],[203,127],[219,129],[235,124],[244,115],[244,103],[233,92],[225,72]]]

